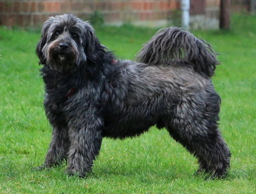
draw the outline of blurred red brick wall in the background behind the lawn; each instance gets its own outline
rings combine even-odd
[[[190,0],[190,12],[209,14],[208,7],[212,12],[218,3],[219,0]],[[49,16],[63,13],[89,19],[94,11],[99,11],[110,24],[148,21],[160,24],[158,21],[176,17],[179,9],[180,0],[0,0],[0,25],[39,26]]]

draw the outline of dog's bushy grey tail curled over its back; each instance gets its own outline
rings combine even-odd
[[[216,65],[219,64],[216,52],[209,43],[178,27],[159,30],[140,49],[136,59],[148,65],[159,65],[167,61],[189,62],[195,71],[208,77],[214,75]]]

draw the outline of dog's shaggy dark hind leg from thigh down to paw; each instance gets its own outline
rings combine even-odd
[[[198,158],[199,171],[211,173],[212,177],[224,177],[229,169],[229,148],[224,142],[216,121],[218,111],[206,105],[204,112],[185,102],[177,105],[172,121],[166,125],[170,135]]]

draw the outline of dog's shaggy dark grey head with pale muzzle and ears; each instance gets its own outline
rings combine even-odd
[[[40,64],[67,71],[86,61],[96,63],[105,47],[95,37],[93,27],[72,14],[50,17],[41,30],[36,48]]]

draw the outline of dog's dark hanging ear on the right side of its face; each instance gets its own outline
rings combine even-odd
[[[105,46],[100,44],[98,38],[95,36],[94,28],[88,22],[84,22],[84,53],[88,60],[92,62],[101,61],[105,51]]]

